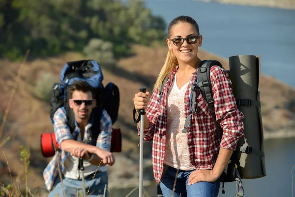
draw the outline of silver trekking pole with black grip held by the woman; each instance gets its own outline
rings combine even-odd
[[[140,92],[146,93],[147,88],[139,88]],[[146,110],[139,110],[140,115],[140,157],[139,157],[139,197],[143,196],[143,160],[144,160],[144,118]]]

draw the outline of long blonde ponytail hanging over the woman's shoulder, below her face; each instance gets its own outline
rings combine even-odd
[[[167,57],[164,63],[164,66],[162,67],[159,76],[156,80],[156,83],[154,85],[153,90],[157,89],[157,87],[159,87],[163,80],[165,79],[165,77],[178,65],[177,59],[173,54],[172,50],[169,50],[167,53]]]

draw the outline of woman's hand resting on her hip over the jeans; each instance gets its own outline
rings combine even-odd
[[[215,182],[219,176],[214,174],[213,170],[197,169],[193,171],[188,177],[188,185],[192,185],[201,181]]]

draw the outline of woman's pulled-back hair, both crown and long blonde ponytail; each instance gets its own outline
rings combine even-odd
[[[172,28],[177,25],[178,23],[189,23],[193,25],[197,32],[200,34],[199,25],[198,23],[190,16],[178,16],[177,18],[173,19],[168,26],[168,36],[171,37],[171,30]],[[169,50],[167,53],[167,57],[164,63],[164,66],[162,67],[158,78],[156,80],[156,83],[153,87],[153,90],[157,89],[162,82],[164,81],[165,77],[178,65],[177,58],[173,54],[172,50]]]

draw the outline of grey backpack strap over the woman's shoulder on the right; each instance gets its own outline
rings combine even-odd
[[[222,67],[222,65],[220,64],[220,62],[216,61],[216,60],[205,60],[201,63],[201,66],[198,68],[197,71],[197,85],[200,89],[200,92],[203,96],[204,99],[206,99],[208,106],[209,106],[209,110],[211,112],[213,121],[214,121],[214,125],[218,134],[218,138],[221,139],[222,135],[221,135],[221,128],[219,126],[219,124],[216,121],[216,115],[215,115],[215,108],[214,108],[214,99],[213,99],[213,93],[212,93],[212,84],[211,84],[211,80],[210,80],[210,68],[212,66],[220,66]],[[195,100],[193,100],[193,106]]]

